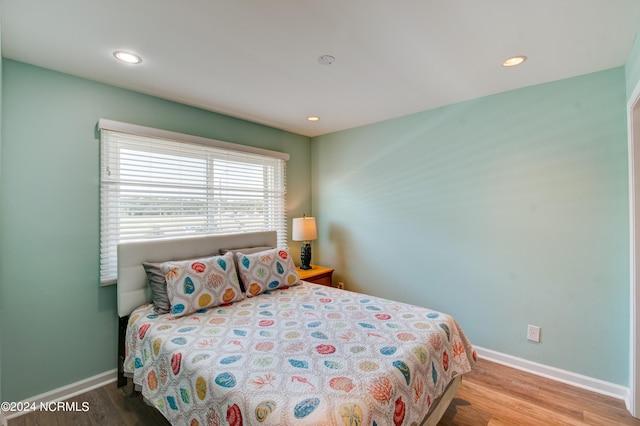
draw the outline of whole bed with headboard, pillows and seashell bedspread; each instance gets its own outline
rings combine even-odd
[[[154,263],[179,287],[168,313]],[[176,425],[437,424],[476,358],[455,319],[294,272],[275,232],[120,245],[119,385],[131,377]]]

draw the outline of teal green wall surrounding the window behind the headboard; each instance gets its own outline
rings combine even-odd
[[[309,138],[4,60],[2,397],[116,367],[116,288],[98,278],[99,118],[288,152],[289,217],[311,211]]]

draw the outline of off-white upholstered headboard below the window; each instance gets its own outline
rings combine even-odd
[[[218,255],[220,249],[276,247],[276,231],[151,240],[118,245],[118,316],[126,317],[151,302],[142,262],[193,259]]]

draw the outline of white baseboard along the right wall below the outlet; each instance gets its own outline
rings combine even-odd
[[[523,358],[503,354],[501,352],[492,351],[490,349],[474,346],[476,353],[480,358],[492,361],[507,367],[516,368],[547,379],[556,380],[571,386],[576,386],[601,395],[611,396],[613,398],[622,399],[629,408],[629,388],[616,385],[614,383],[605,382],[604,380],[595,379],[593,377],[584,376],[582,374],[573,373],[571,371],[562,370],[560,368],[550,367],[537,362],[529,361]]]

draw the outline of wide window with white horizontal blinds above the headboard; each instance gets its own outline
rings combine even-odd
[[[287,154],[100,120],[100,282],[120,242],[276,230],[286,244]]]

